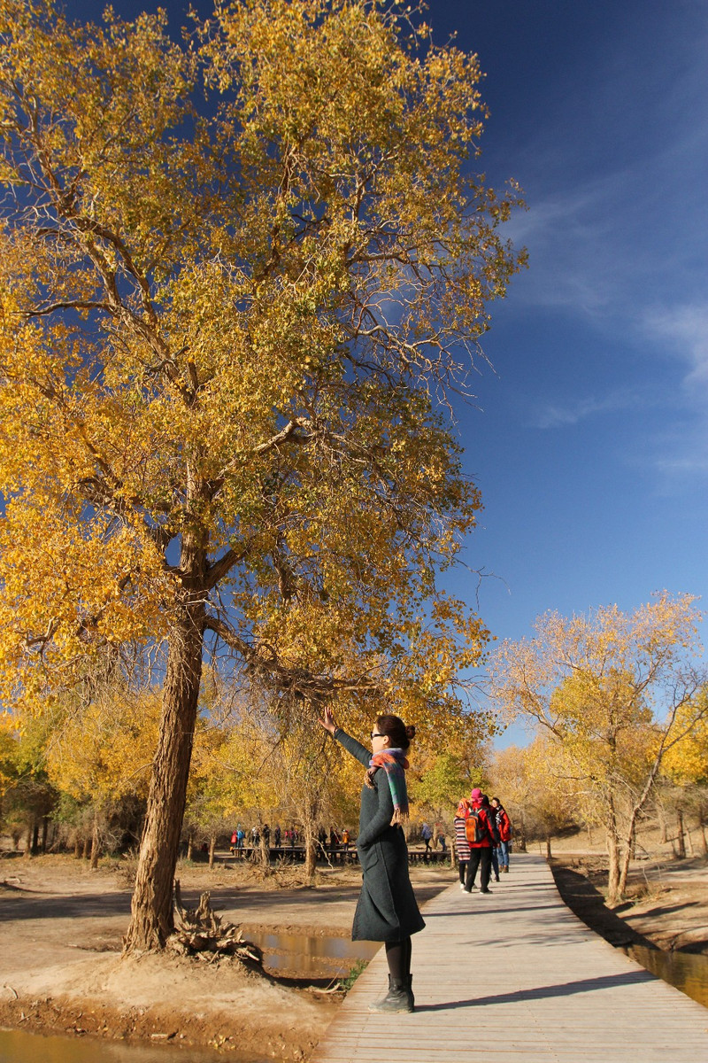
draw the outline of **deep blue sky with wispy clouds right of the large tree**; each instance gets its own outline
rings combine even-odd
[[[176,30],[187,4],[166,6]],[[481,167],[529,205],[508,227],[530,268],[457,409],[485,575],[454,589],[499,639],[549,609],[706,601],[708,4],[431,0],[428,19],[479,54]]]

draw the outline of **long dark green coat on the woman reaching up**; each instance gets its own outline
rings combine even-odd
[[[372,754],[341,727],[334,738],[365,767]],[[374,789],[361,792],[357,851],[362,884],[351,928],[352,941],[400,941],[422,930],[408,873],[408,847],[400,827],[392,827],[394,803],[386,773],[377,769]]]

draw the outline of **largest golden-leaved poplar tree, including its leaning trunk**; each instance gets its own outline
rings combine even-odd
[[[377,0],[70,22],[0,0],[0,662],[46,706],[162,644],[126,948],[160,947],[205,653],[276,703],[460,711],[485,632],[445,405],[519,257],[477,57]],[[432,724],[431,724],[432,725]]]

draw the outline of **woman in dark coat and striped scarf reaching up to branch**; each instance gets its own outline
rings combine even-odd
[[[405,752],[415,727],[395,715],[378,716],[369,753],[338,727],[329,709],[320,723],[367,769],[357,837],[362,887],[351,940],[384,942],[390,972],[387,994],[369,1011],[413,1011],[411,935],[426,924],[411,885],[401,823],[408,819]]]

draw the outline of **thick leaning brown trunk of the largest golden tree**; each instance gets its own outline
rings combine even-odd
[[[183,561],[185,550],[183,542]],[[203,563],[205,560],[203,557]],[[174,929],[172,883],[187,799],[204,643],[204,607],[200,594],[193,596],[196,601],[183,604],[169,635],[159,738],[124,952],[160,949]]]

